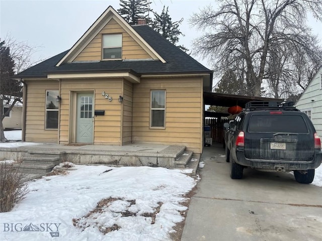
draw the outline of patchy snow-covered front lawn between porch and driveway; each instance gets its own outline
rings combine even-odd
[[[1,240],[171,240],[196,184],[165,168],[75,169],[30,181],[27,197],[1,213]]]

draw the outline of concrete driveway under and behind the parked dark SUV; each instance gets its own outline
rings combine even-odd
[[[322,240],[321,187],[252,169],[230,179],[219,144],[206,147],[201,160],[181,241]]]

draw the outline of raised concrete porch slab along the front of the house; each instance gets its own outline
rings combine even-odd
[[[185,149],[185,146],[141,143],[124,146],[39,143],[16,148],[0,147],[0,159],[19,161],[26,157],[37,159],[37,155],[59,155],[62,162],[74,164],[176,168],[176,159],[185,153]]]

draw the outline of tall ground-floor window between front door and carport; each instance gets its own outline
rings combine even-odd
[[[150,127],[166,127],[166,91],[151,90]]]

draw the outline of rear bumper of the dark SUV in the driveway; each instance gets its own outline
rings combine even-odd
[[[321,164],[322,152],[315,152],[311,161],[284,161],[284,160],[265,160],[265,159],[248,159],[245,157],[244,148],[236,150],[236,163],[258,169],[270,169],[272,171],[293,171],[315,169]]]

